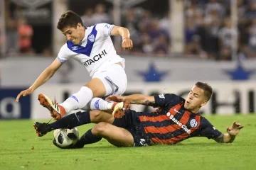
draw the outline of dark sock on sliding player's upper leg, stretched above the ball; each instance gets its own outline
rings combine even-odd
[[[90,121],[90,111],[85,112],[77,112],[70,115],[67,115],[60,120],[55,121],[54,123],[50,123],[48,125],[48,132],[60,129],[60,128],[69,128],[72,129],[74,127],[85,125],[87,123],[91,123]]]

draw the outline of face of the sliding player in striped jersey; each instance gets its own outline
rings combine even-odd
[[[204,90],[198,88],[197,86],[193,86],[191,91],[189,92],[184,107],[193,113],[198,113],[199,109],[202,106],[205,106],[207,103],[206,97],[204,94]]]

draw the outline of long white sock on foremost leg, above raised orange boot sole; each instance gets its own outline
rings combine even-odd
[[[65,108],[66,113],[73,111],[78,108],[83,108],[87,103],[92,99],[92,90],[87,86],[82,86],[78,93],[73,94],[63,103],[60,103],[60,106]]]

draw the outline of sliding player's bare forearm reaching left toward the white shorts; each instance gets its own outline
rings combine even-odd
[[[145,96],[142,94],[132,94],[129,96],[110,95],[106,98],[107,101],[122,102],[127,101],[131,104],[142,104],[146,106],[156,106],[154,96]]]

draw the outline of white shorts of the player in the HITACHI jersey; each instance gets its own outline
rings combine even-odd
[[[112,64],[95,72],[92,76],[93,78],[98,78],[102,81],[106,88],[105,96],[110,96],[111,94],[122,95],[127,89],[127,75],[124,72],[124,68],[119,64]]]

